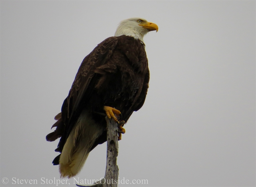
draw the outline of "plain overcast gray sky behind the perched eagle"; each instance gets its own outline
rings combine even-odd
[[[256,185],[255,1],[0,3],[1,187],[56,186],[41,184],[60,179],[45,136],[84,57],[132,17],[159,31],[144,37],[150,88],[119,141],[119,177],[148,184],[119,186]],[[105,167],[102,144],[76,179]]]

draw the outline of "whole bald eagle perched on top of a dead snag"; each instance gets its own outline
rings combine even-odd
[[[90,151],[106,142],[106,115],[124,133],[124,123],[144,104],[149,69],[143,37],[154,30],[158,26],[142,18],[123,20],[114,37],[102,41],[82,61],[54,118],[56,130],[46,136],[50,142],[60,138],[55,150],[60,155],[52,163],[59,165],[61,177],[78,174]]]

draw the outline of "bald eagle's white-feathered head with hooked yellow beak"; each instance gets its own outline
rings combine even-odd
[[[143,42],[143,37],[149,31],[158,31],[158,26],[142,18],[129,18],[120,22],[114,36],[132,36]]]

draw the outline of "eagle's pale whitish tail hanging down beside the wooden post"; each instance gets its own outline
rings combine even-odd
[[[60,155],[61,177],[74,177],[81,171],[91,147],[103,130],[104,127],[96,124],[88,111],[80,114]]]

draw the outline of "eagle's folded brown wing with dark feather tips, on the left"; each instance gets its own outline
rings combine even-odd
[[[56,152],[62,151],[66,139],[80,115],[82,110],[81,105],[84,99],[86,96],[90,96],[95,87],[94,85],[98,81],[96,73],[97,67],[104,65],[108,59],[110,59],[117,43],[118,39],[116,37],[105,39],[82,61],[68,97],[63,102],[62,113],[55,117],[58,121],[52,127],[57,128],[54,132],[46,136],[46,140],[50,142],[61,137],[58,148],[55,150]],[[57,157],[54,159],[53,163],[58,164]]]

